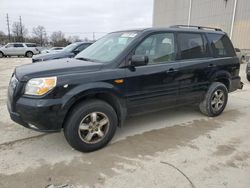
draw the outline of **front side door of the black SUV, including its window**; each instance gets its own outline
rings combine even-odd
[[[140,113],[176,104],[178,63],[174,33],[146,37],[134,55],[148,56],[148,65],[126,69],[126,96],[129,113]]]

